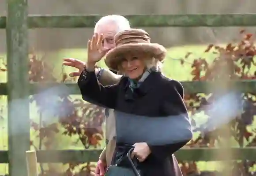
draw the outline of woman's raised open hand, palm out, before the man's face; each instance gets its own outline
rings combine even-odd
[[[95,64],[102,59],[103,56],[108,52],[102,46],[103,34],[95,33],[91,40],[88,41],[88,59],[87,69],[94,68]]]

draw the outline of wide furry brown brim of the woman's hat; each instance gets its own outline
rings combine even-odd
[[[118,71],[118,64],[126,53],[145,52],[155,59],[163,61],[166,56],[166,49],[158,43],[130,43],[115,47],[105,57],[105,64],[112,70]]]

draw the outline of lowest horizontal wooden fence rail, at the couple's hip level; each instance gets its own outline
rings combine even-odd
[[[68,162],[97,162],[102,150],[40,150],[37,151],[37,159],[40,163],[68,163]],[[226,155],[232,153],[229,159],[255,161],[256,149],[246,148],[188,148],[175,153],[180,161],[223,161]],[[0,151],[0,163],[8,163],[8,151]]]

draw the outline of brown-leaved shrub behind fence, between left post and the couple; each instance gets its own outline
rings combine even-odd
[[[38,58],[35,53],[30,54],[29,74],[30,82],[45,83],[68,81],[68,76],[64,72],[62,72],[62,79],[57,80],[53,76],[53,67],[49,67],[44,58]],[[41,116],[39,124],[31,120],[31,127],[38,133],[39,146],[35,146],[33,141],[30,142],[31,145],[34,146],[36,150],[52,149],[54,140],[56,139],[55,135],[60,132],[60,124],[61,127],[64,128],[62,134],[76,139],[76,143],[81,142],[85,149],[100,146],[103,136],[102,123],[105,119],[103,113],[104,109],[80,99],[73,100],[67,92],[61,91],[61,89],[61,87],[57,87],[56,91],[53,90],[53,92],[42,89],[39,94],[35,94],[31,98],[31,102],[35,101],[38,105],[39,113],[48,112],[51,105],[57,105],[58,107],[51,107],[51,109],[57,109],[57,111],[51,112],[50,114],[57,116],[59,119],[58,122],[50,124],[43,121]],[[46,91],[45,94],[44,91]],[[49,98],[51,96],[57,96],[58,98]],[[68,164],[68,169],[65,173],[59,173],[51,164],[48,164],[48,170],[45,170],[45,168],[40,165],[41,176],[90,176],[95,167],[95,165],[92,165],[90,162],[81,167],[78,167],[81,163],[63,164]]]

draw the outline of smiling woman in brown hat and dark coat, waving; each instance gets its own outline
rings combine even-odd
[[[115,109],[117,119],[118,112],[124,112],[149,118],[179,116],[187,122],[177,131],[186,134],[185,139],[174,144],[170,142],[168,145],[153,146],[143,141],[125,144],[117,138],[113,157],[116,159],[113,159],[112,164],[117,164],[120,154],[125,156],[126,145],[133,145],[132,155],[139,160],[138,169],[142,176],[182,175],[173,153],[192,138],[192,131],[181,83],[166,78],[159,71],[166,49],[162,45],[150,43],[149,34],[144,30],[131,29],[118,33],[114,38],[116,47],[107,53],[105,63],[124,76],[115,85],[102,86],[94,72],[95,64],[104,55],[100,50],[102,39],[103,36],[96,33],[88,41],[87,66],[78,80],[82,97]]]

